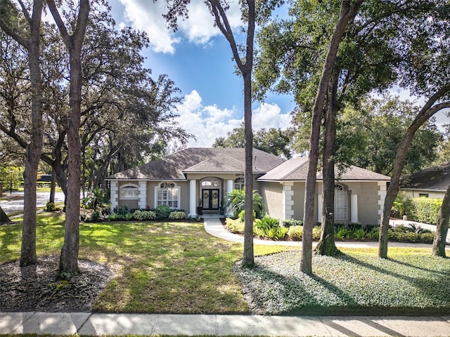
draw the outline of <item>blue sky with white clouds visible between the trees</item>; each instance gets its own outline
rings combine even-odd
[[[243,81],[235,74],[236,63],[231,48],[214,27],[212,15],[203,0],[191,0],[189,18],[179,22],[179,31],[167,28],[162,13],[165,0],[109,0],[118,27],[131,26],[148,34],[150,48],[143,51],[146,67],[156,79],[167,74],[181,89],[183,100],[177,106],[177,121],[195,136],[188,147],[210,147],[214,140],[243,122]],[[231,1],[228,18],[236,39],[240,33],[238,1]],[[278,12],[283,15],[283,12]],[[411,98],[395,91],[401,98]],[[252,126],[282,128],[290,126],[290,112],[295,107],[289,95],[269,94],[264,102],[252,105]],[[443,113],[437,124],[450,123]]]

